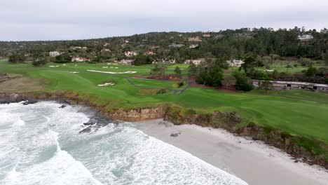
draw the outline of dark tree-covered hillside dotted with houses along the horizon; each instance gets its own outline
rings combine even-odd
[[[299,36],[313,39],[302,42]],[[85,47],[74,48],[76,46]],[[135,51],[151,56],[146,63],[157,59],[175,59],[177,62],[198,58],[230,59],[245,56],[308,57],[314,60],[328,59],[328,30],[294,29],[227,29],[220,32],[151,32],[133,36],[87,39],[75,41],[0,41],[0,57],[13,55],[13,62],[32,61],[49,57],[50,51],[66,53],[69,57],[87,57],[93,62],[108,62],[131,58],[125,51]],[[138,57],[132,56],[132,59]],[[139,56],[140,57],[140,56]]]

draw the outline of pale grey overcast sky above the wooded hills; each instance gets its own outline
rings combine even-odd
[[[328,0],[1,0],[0,40],[328,27]]]

